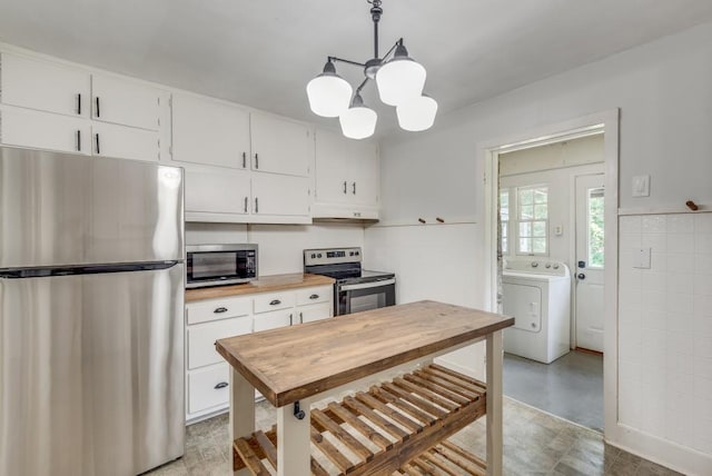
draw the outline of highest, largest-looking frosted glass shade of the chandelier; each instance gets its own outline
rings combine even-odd
[[[376,73],[376,85],[380,100],[388,106],[399,106],[423,93],[426,71],[423,65],[408,58],[403,44],[396,47],[390,61],[383,65]]]

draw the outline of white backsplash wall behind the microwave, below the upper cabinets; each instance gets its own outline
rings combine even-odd
[[[358,224],[186,224],[187,245],[224,242],[259,245],[259,275],[280,275],[303,271],[304,249],[363,247],[364,228]]]

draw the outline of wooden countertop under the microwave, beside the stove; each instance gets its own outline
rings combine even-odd
[[[312,286],[333,285],[335,280],[327,276],[296,272],[291,275],[264,276],[243,285],[214,286],[210,288],[186,289],[186,303],[202,299],[215,299],[230,296],[243,296],[255,292],[283,291],[287,289],[308,288]]]

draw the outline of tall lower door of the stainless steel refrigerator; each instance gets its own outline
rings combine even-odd
[[[184,454],[184,274],[0,279],[0,474],[132,476]]]

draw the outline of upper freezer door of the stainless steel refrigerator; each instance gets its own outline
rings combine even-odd
[[[182,169],[0,148],[0,268],[181,260]]]

